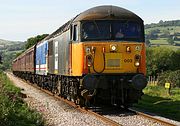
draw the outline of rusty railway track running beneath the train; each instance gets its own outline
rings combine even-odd
[[[8,73],[8,74],[11,74],[11,73]],[[13,76],[13,74],[11,74],[11,76]],[[24,81],[24,80],[22,80],[22,81]],[[26,82],[26,81],[24,81],[24,82]],[[29,82],[26,82],[26,83],[29,83]],[[96,107],[90,107],[90,108],[81,108],[80,106],[76,105],[75,103],[73,103],[71,101],[68,101],[67,99],[59,97],[57,95],[54,95],[50,91],[42,89],[42,88],[38,87],[35,84],[30,84],[30,85],[35,87],[38,90],[41,90],[41,91],[53,96],[57,100],[61,100],[61,101],[65,102],[65,103],[69,104],[70,106],[76,108],[77,110],[79,110],[79,111],[81,111],[83,113],[86,113],[86,114],[93,115],[93,116],[97,117],[98,119],[100,119],[101,121],[105,122],[107,125],[110,125],[110,126],[121,126],[121,125],[123,125],[120,122],[115,121],[112,118],[107,117],[107,115],[108,116],[110,115],[110,116],[113,116],[113,117],[114,116],[118,117],[119,113],[128,113],[127,115],[131,115],[131,116],[132,115],[141,116],[141,117],[143,117],[145,119],[151,120],[151,121],[156,122],[159,125],[163,125],[163,126],[164,125],[165,126],[176,126],[175,124],[172,124],[172,123],[170,123],[168,121],[155,118],[153,115],[145,114],[143,112],[140,112],[140,111],[132,109],[132,108],[129,108],[128,110],[127,109],[125,110],[125,109],[122,109],[122,108],[117,108],[117,107],[112,107],[112,108],[104,107],[103,108],[102,106],[100,106],[100,107],[96,106]],[[119,116],[118,118],[121,118],[121,117]]]

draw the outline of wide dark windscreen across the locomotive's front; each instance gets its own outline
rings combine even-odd
[[[82,24],[82,40],[123,40],[142,42],[143,27],[136,21],[86,21]]]

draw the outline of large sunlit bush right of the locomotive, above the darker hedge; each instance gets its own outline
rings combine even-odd
[[[180,50],[156,47],[147,48],[146,66],[148,76],[157,76],[161,72],[180,70]]]

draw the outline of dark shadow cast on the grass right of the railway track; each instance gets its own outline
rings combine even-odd
[[[157,96],[143,95],[134,107],[159,116],[180,121],[180,101]]]

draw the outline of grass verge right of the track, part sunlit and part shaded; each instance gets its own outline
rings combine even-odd
[[[180,121],[180,88],[171,89],[171,95],[160,86],[147,86],[143,92],[142,99],[134,107]]]

